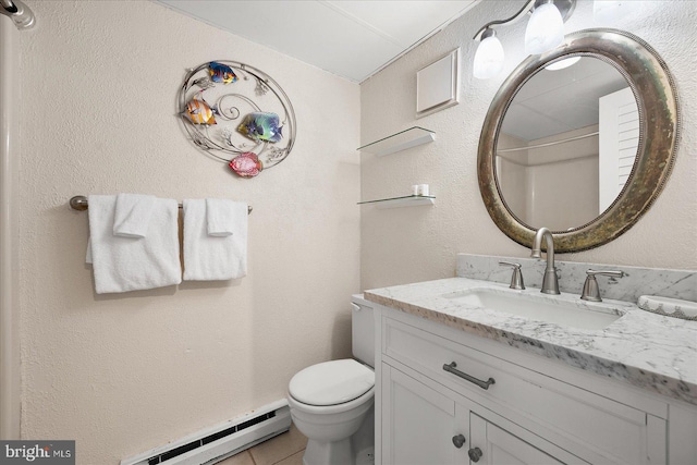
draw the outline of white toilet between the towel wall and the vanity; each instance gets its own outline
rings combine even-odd
[[[288,388],[291,418],[307,437],[304,465],[367,465],[375,446],[375,322],[362,295],[352,297],[352,347],[360,362],[325,362],[298,371]]]

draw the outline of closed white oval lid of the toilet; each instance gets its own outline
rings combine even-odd
[[[298,371],[290,394],[308,405],[337,405],[362,396],[375,386],[375,372],[353,359],[332,360]]]

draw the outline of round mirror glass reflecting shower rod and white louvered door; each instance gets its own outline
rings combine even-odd
[[[600,59],[578,58],[540,69],[501,124],[497,183],[510,211],[533,228],[561,232],[596,219],[636,158],[639,118],[627,82]]]

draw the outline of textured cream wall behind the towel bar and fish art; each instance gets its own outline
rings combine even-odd
[[[119,460],[285,396],[350,356],[359,291],[359,87],[148,1],[28,1],[21,35],[22,436]],[[198,152],[175,96],[186,68],[271,75],[297,115],[290,157],[253,180]],[[354,158],[353,163],[346,162]],[[248,276],[96,296],[76,194],[248,201]]]

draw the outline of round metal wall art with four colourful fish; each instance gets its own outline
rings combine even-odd
[[[229,166],[234,178],[258,176],[293,149],[293,106],[281,86],[254,65],[208,60],[189,68],[176,103],[175,118],[187,138]]]

